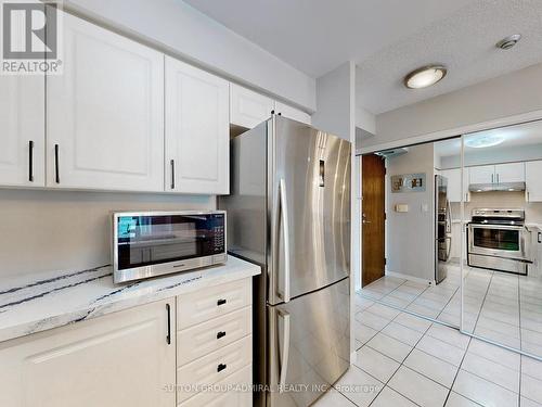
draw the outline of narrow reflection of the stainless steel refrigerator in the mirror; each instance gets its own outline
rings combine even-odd
[[[448,200],[448,178],[435,176],[435,281],[448,276],[452,250],[452,211]]]

